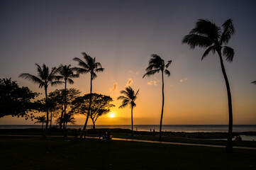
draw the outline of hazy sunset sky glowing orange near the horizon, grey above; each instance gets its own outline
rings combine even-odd
[[[0,78],[40,92],[21,73],[36,75],[35,63],[58,67],[77,62],[86,52],[105,71],[93,81],[93,92],[113,98],[116,106],[96,125],[129,125],[130,108],[119,109],[116,98],[130,85],[140,89],[133,111],[135,125],[160,123],[162,85],[160,74],[145,77],[151,54],[169,66],[165,76],[164,125],[226,125],[228,98],[218,56],[203,61],[204,49],[191,50],[182,38],[198,19],[221,26],[233,19],[236,33],[228,46],[233,62],[224,62],[233,100],[233,123],[256,124],[256,2],[255,1],[0,1]],[[89,75],[74,79],[68,88],[89,93]],[[64,86],[50,87],[49,91]],[[85,122],[76,115],[77,125]],[[6,116],[0,125],[33,124]],[[91,124],[91,122],[89,122]]]

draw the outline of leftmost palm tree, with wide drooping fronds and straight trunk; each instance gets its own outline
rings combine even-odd
[[[43,67],[40,67],[40,65],[35,64],[38,68],[38,77],[28,74],[28,73],[23,73],[20,74],[19,77],[22,77],[24,79],[28,79],[32,81],[35,84],[39,84],[39,88],[44,88],[45,89],[45,105],[46,105],[46,125],[45,125],[45,134],[44,137],[47,136],[47,130],[48,130],[48,122],[49,122],[49,112],[48,112],[48,86],[54,86],[57,84],[61,84],[61,81],[57,81],[57,79],[60,79],[60,77],[57,77],[56,74],[58,72],[58,69],[56,67],[53,67],[52,70],[49,70],[49,67],[47,67],[45,64],[43,64]]]

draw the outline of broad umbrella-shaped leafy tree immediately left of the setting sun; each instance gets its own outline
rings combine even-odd
[[[89,103],[91,99],[91,109],[89,113]],[[82,115],[89,115],[92,123],[94,124],[96,120],[101,116],[110,111],[111,107],[114,107],[111,104],[112,98],[110,96],[105,96],[103,94],[86,94],[84,96],[77,97],[72,102],[72,113],[79,113]]]

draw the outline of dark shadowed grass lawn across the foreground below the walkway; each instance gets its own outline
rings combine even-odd
[[[142,142],[0,137],[4,169],[256,169],[256,151]]]

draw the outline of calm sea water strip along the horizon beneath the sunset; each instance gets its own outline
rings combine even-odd
[[[67,128],[83,128],[84,125],[67,125]],[[42,125],[0,125],[0,129],[42,128]],[[87,125],[92,128],[92,125]],[[96,125],[96,128],[130,129],[130,125]],[[159,125],[133,125],[133,130],[159,132]],[[167,132],[228,132],[228,125],[162,125]],[[233,125],[233,132],[256,132],[256,125]]]

